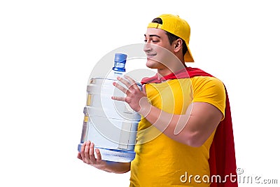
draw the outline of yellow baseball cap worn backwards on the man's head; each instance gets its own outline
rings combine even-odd
[[[158,16],[158,18],[162,19],[162,24],[150,22],[148,28],[162,29],[179,36],[186,42],[188,47],[188,51],[184,56],[185,62],[195,62],[192,53],[190,53],[190,47],[188,46],[190,41],[190,25],[188,25],[188,22],[181,19],[179,15],[162,14]]]

